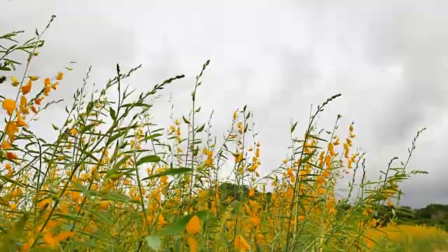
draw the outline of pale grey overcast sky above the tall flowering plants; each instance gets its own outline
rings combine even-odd
[[[52,76],[77,62],[53,97],[70,103],[90,64],[98,85],[114,76],[116,63],[123,69],[143,64],[128,80],[140,92],[186,74],[160,93],[164,98],[153,113],[163,125],[169,122],[170,94],[176,115],[188,113],[195,75],[211,59],[199,91],[200,120],[214,109],[214,134],[220,136],[232,111],[247,104],[260,134],[265,174],[285,158],[290,119],[304,130],[311,104],[342,93],[319,125],[330,130],[340,113],[346,134],[354,120],[356,146],[367,151],[367,171],[374,177],[394,156],[405,160],[416,132],[428,127],[409,169],[429,174],[403,184],[402,203],[448,204],[447,1],[0,0],[0,5],[0,34],[25,30],[22,41],[57,15],[31,67],[31,73]],[[54,107],[41,118],[60,123],[63,111]]]

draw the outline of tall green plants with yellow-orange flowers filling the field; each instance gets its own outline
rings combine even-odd
[[[28,72],[45,30],[25,43],[21,32],[0,36],[0,251],[447,248],[447,234],[436,228],[396,225],[394,216],[379,225],[377,210],[400,201],[400,181],[422,173],[406,166],[423,130],[405,162],[393,159],[379,179],[367,180],[364,153],[352,148],[355,125],[339,125],[337,116],[332,129],[317,126],[318,114],[340,94],[318,106],[306,132],[290,125],[288,158],[268,176],[258,173],[269,154],[262,153],[248,108],[229,115],[223,139],[211,135],[210,121],[197,121],[196,94],[209,61],[197,75],[190,111],[172,116],[168,129],[151,122],[151,98],[183,76],[137,93],[125,81],[140,67],[117,65],[97,92],[85,91],[87,73],[64,123],[49,129],[55,141],[36,135],[28,126],[58,106],[52,90],[64,88],[71,71]],[[26,62],[10,58],[17,52]],[[16,70],[19,64],[24,71]],[[6,95],[6,85],[15,94]],[[113,92],[118,99],[109,98]],[[231,176],[222,178],[222,169],[232,169]],[[352,178],[348,195],[336,197],[344,176]]]

